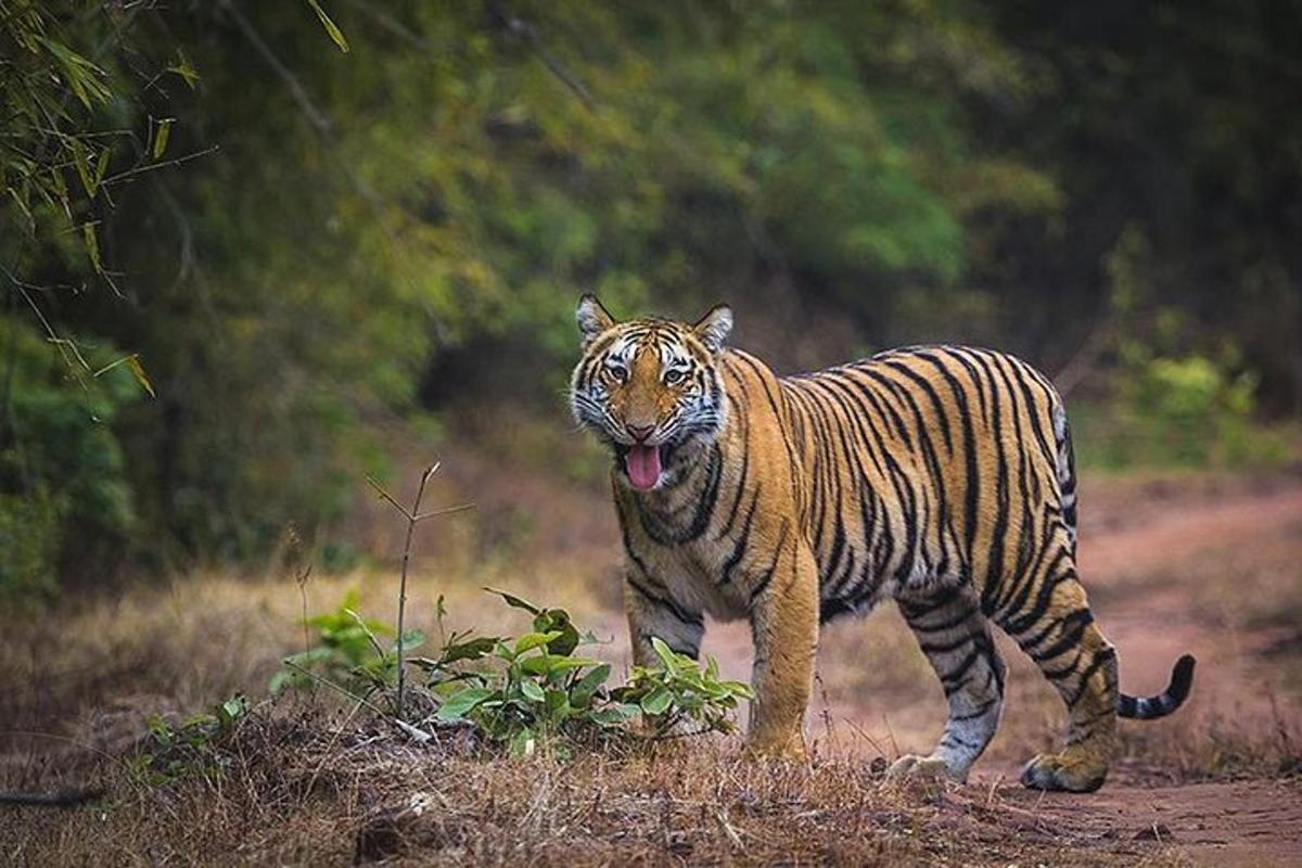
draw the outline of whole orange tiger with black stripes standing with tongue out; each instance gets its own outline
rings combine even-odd
[[[898,757],[889,778],[966,781],[1004,705],[991,625],[1066,707],[1064,744],[1025,765],[1027,787],[1096,790],[1117,718],[1185,701],[1190,655],[1160,695],[1118,690],[1075,567],[1066,413],[1030,364],[936,345],[777,376],[728,345],[725,305],[691,324],[617,321],[587,294],[575,319],[570,409],[613,457],[633,662],[654,665],[652,638],[699,658],[706,614],[749,619],[749,753],[806,757],[822,625],[887,599],[949,708],[932,752]]]

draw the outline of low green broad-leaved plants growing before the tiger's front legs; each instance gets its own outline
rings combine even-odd
[[[519,636],[444,632],[440,599],[439,632],[444,640],[439,655],[405,661],[423,673],[423,681],[415,679],[410,687],[436,707],[422,725],[469,726],[514,756],[539,750],[568,756],[577,744],[594,739],[728,733],[736,726],[738,700],[751,698],[747,685],[721,679],[712,658],[702,668],[659,639],[654,643],[659,666],[637,666],[626,683],[611,685],[611,664],[577,653],[598,640],[579,631],[568,610],[539,606],[505,591],[486,591],[527,612],[531,629]],[[272,688],[327,682],[371,705],[371,692],[396,685],[396,648],[384,649],[379,640],[393,636],[395,629],[362,618],[355,606],[357,595],[350,592],[335,612],[310,618],[320,644],[288,657]],[[423,639],[413,631],[405,645],[415,647]],[[352,692],[358,688],[366,694]],[[646,722],[642,729],[628,726],[638,717]],[[406,721],[395,721],[411,731]],[[681,725],[691,729],[685,731]]]

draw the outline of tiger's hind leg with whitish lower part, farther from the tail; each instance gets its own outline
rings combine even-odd
[[[949,721],[936,748],[926,757],[905,756],[889,777],[930,768],[956,781],[982,755],[999,727],[1004,707],[1004,661],[970,587],[949,588],[918,601],[900,600],[900,612],[940,677],[949,703]]]

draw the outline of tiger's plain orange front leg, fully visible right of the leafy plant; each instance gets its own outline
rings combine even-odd
[[[805,759],[802,724],[818,653],[818,569],[807,547],[786,543],[751,590],[755,699],[747,750],[798,761]]]

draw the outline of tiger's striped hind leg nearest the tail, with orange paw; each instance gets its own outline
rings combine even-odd
[[[1027,763],[1022,783],[1035,790],[1090,793],[1103,786],[1117,729],[1117,656],[1094,623],[1070,558],[1031,582],[1021,604],[996,621],[1040,668],[1066,704],[1068,727],[1057,753]]]

